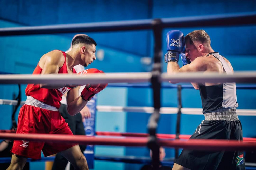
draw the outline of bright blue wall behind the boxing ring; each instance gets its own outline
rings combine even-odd
[[[174,1],[174,0],[1,0],[0,27],[38,26],[49,24],[86,23],[148,18],[170,18],[203,16],[236,12],[256,11],[256,1],[215,0],[215,1]],[[238,22],[239,24],[239,22]],[[232,27],[191,27],[175,28],[187,34],[193,30],[204,29],[211,37],[212,47],[228,58],[235,71],[256,70],[255,38],[256,26]],[[166,52],[165,34],[172,28],[164,29],[162,34],[163,52]],[[72,34],[30,35],[0,37],[0,71],[30,74],[39,58],[46,52],[67,50]],[[150,64],[141,63],[144,57],[153,56],[152,31],[116,31],[85,33],[98,43],[97,51],[104,52],[104,58],[96,60],[90,67],[105,72],[145,72]],[[181,63],[179,63],[181,65]],[[166,72],[167,64],[163,63]],[[17,85],[0,85],[1,99],[12,99],[17,94]],[[23,85],[22,98],[25,100]],[[256,109],[255,90],[237,90],[240,109]],[[177,90],[162,89],[163,107],[177,106]],[[182,90],[183,107],[201,107],[199,91]],[[99,94],[99,105],[153,106],[152,90],[141,88],[107,88]],[[2,110],[1,129],[11,125],[11,106],[0,105]],[[96,130],[113,132],[147,132],[146,124],[150,115],[146,113],[97,113]],[[256,117],[240,116],[245,137],[256,136]],[[203,119],[203,115],[182,115],[181,134],[191,134]],[[176,115],[161,115],[159,133],[175,133]],[[173,157],[173,149],[166,150],[167,157]],[[148,150],[125,147],[96,147],[96,154],[148,156]],[[35,163],[34,163],[35,164]],[[96,162],[95,169],[139,169],[141,165]],[[43,165],[37,165],[44,169]],[[33,167],[32,167],[33,168]]]

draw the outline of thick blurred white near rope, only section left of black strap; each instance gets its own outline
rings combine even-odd
[[[68,74],[9,74],[0,75],[0,84],[87,84],[149,82],[150,72],[145,73],[94,73],[86,76]]]

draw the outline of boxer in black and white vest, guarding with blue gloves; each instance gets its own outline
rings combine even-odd
[[[179,50],[177,47],[172,47],[175,43],[181,46]],[[177,64],[179,55],[174,56],[170,53],[172,51],[180,53],[180,49],[184,47],[183,43],[185,43],[185,53],[180,54],[183,62],[183,67],[180,68]],[[168,62],[167,73],[203,71],[233,74],[230,62],[215,52],[210,44],[210,37],[204,30],[189,33],[185,40],[181,31],[168,32],[167,54],[169,55],[165,55],[165,61]],[[205,82],[192,83],[192,85],[200,90],[205,120],[197,127],[190,139],[242,140],[242,125],[236,113],[238,107],[236,84]],[[173,170],[181,169],[245,169],[243,152],[183,150],[173,166]]]

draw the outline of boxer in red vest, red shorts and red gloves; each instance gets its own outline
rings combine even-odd
[[[65,53],[53,50],[44,54],[33,74],[73,74],[74,66],[88,66],[95,59],[97,43],[89,36],[80,35],[72,40],[72,50]],[[80,75],[99,73],[98,69],[87,69]],[[28,84],[25,93],[27,100],[22,106],[18,117],[17,133],[46,133],[73,135],[68,124],[61,117],[58,108],[62,95],[67,92],[67,110],[75,115],[107,84],[87,84],[79,96],[77,86]],[[52,142],[34,142],[14,140],[11,164],[8,170],[22,169],[27,158],[40,159],[41,151],[44,156],[61,153],[75,169],[88,169],[87,161],[78,145],[58,144]]]

